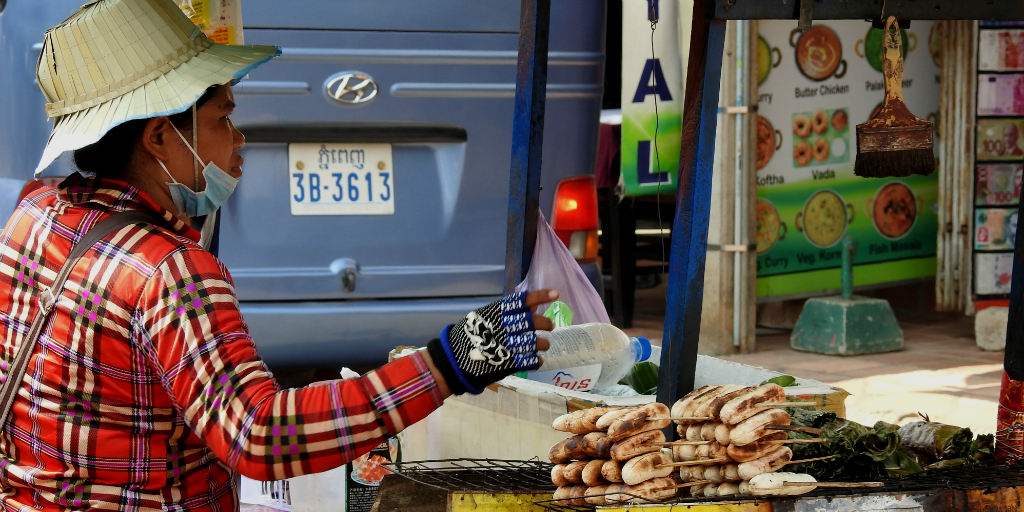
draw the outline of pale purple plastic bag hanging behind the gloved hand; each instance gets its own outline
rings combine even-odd
[[[611,323],[608,319],[608,312],[604,310],[601,296],[594,290],[587,274],[583,273],[572,254],[555,234],[555,230],[548,225],[544,213],[538,212],[534,259],[526,272],[526,279],[515,287],[515,290],[524,292],[545,288],[557,290],[558,300],[568,304],[569,309],[572,309],[572,324]],[[547,309],[548,304],[543,304],[538,311],[543,313]]]

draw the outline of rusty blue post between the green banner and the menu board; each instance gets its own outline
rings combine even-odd
[[[669,296],[657,385],[657,400],[670,406],[693,389],[700,336],[715,130],[725,49],[725,22],[709,22],[705,17],[705,4],[693,2],[679,188],[672,224]]]

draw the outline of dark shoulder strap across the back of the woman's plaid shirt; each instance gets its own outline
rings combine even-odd
[[[22,340],[22,346],[17,348],[14,354],[14,362],[10,366],[10,373],[6,376],[7,380],[3,382],[3,388],[0,388],[0,428],[7,423],[7,417],[10,416],[10,408],[14,404],[14,398],[22,387],[25,372],[29,369],[29,359],[32,357],[32,352],[36,349],[36,342],[42,334],[46,318],[49,317],[54,304],[56,304],[57,297],[60,297],[60,294],[63,293],[65,283],[68,281],[72,269],[75,268],[78,261],[82,259],[82,256],[85,256],[85,253],[92,246],[103,240],[108,234],[126,225],[140,222],[157,224],[160,222],[160,219],[152,213],[131,210],[116,213],[100,221],[82,237],[81,242],[72,248],[71,254],[68,255],[63,266],[60,267],[56,279],[53,280],[53,287],[49,289],[44,288],[39,293],[39,311],[36,313],[36,318],[32,322],[29,334]]]

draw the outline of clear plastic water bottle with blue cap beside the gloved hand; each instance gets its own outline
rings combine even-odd
[[[601,365],[595,386],[598,389],[617,384],[633,365],[650,357],[647,338],[630,338],[608,324],[560,327],[551,332],[538,331],[537,336],[551,342],[539,372]]]

